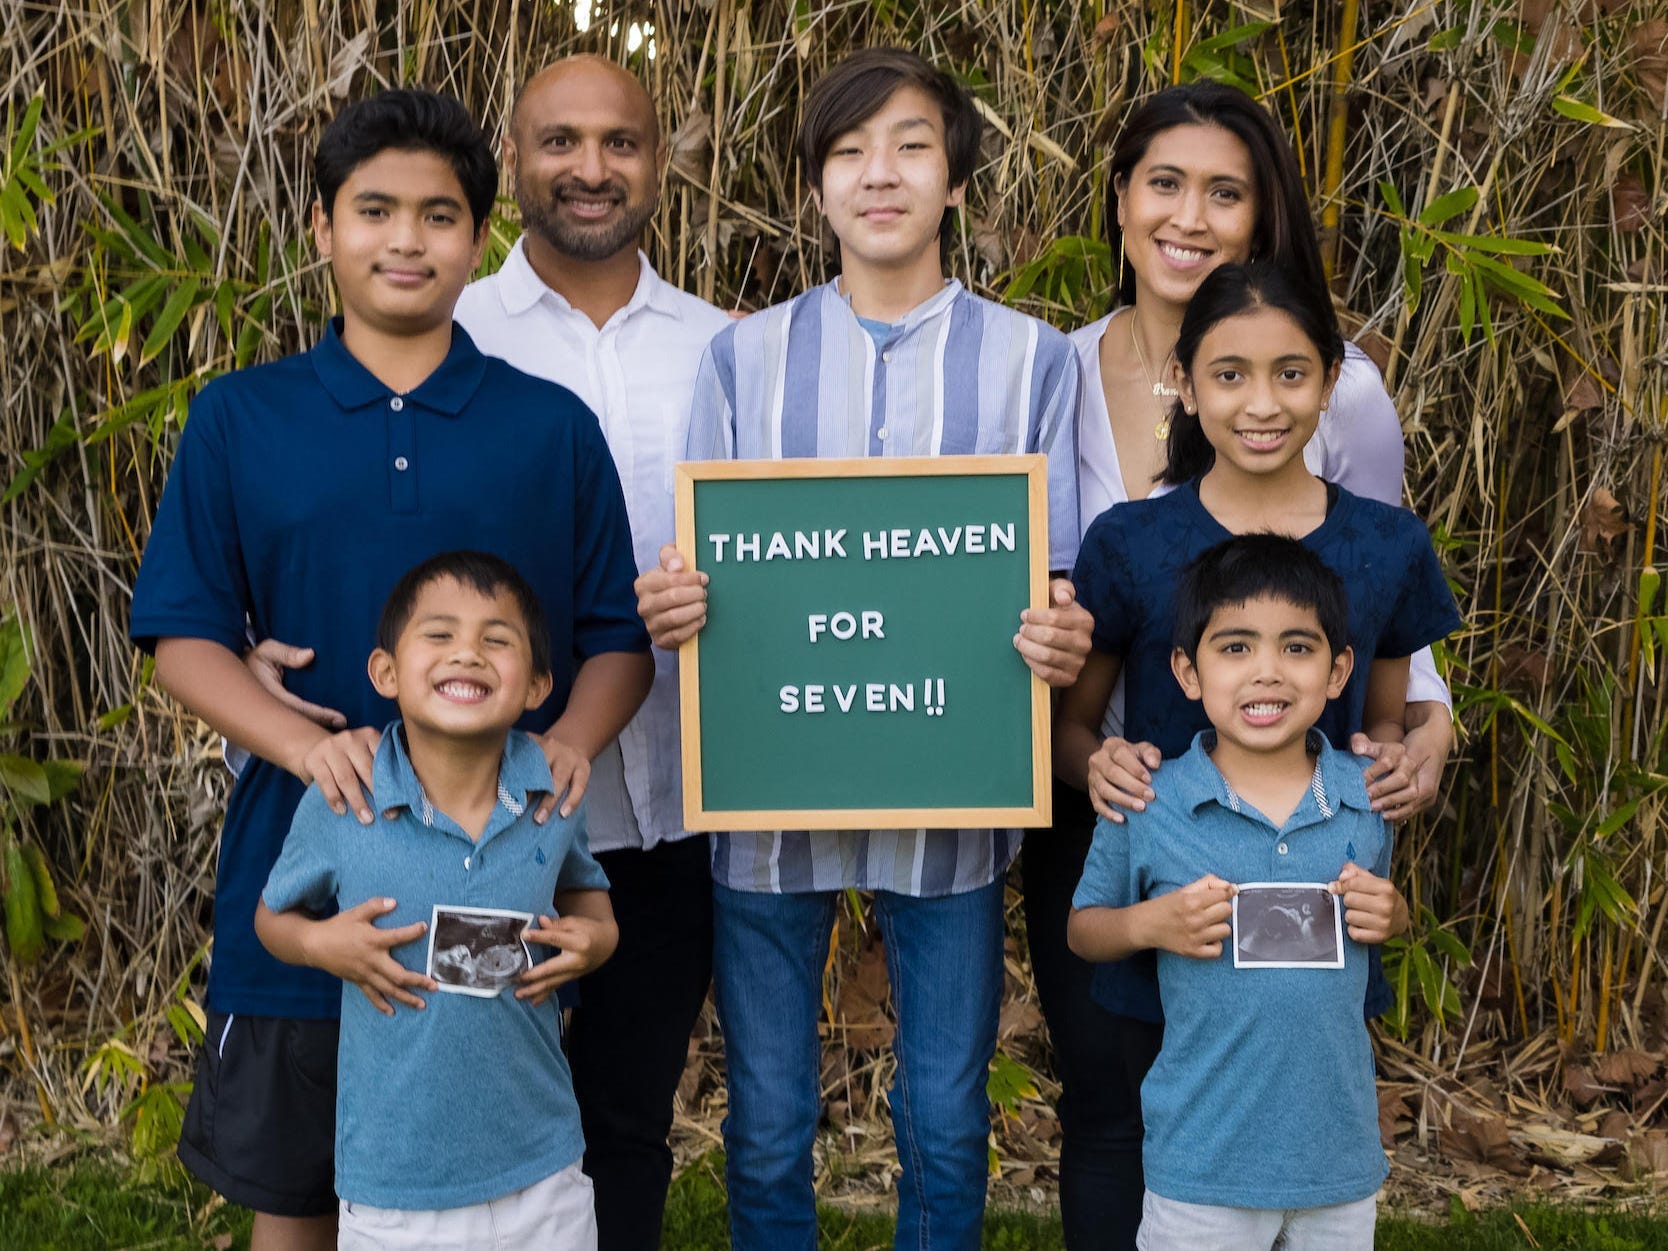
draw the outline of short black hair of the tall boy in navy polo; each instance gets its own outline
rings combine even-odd
[[[474,232],[487,224],[499,193],[499,162],[485,133],[450,95],[395,88],[350,103],[324,128],[314,152],[314,183],[324,215],[334,219],[342,183],[382,152],[434,152],[457,175]]]

